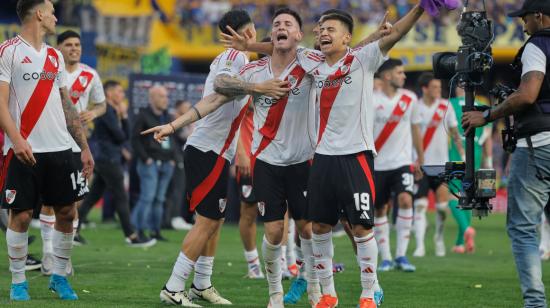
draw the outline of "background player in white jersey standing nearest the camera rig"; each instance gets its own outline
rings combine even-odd
[[[454,141],[461,157],[464,157],[462,141],[458,134],[455,110],[445,99],[441,98],[441,80],[435,79],[432,73],[424,73],[418,79],[422,89],[422,98],[415,106],[414,112],[420,118],[424,164],[445,165],[449,161],[449,134]],[[447,131],[449,133],[447,133]],[[435,220],[435,255],[445,256],[443,226],[447,215],[449,189],[441,181],[423,177],[418,183],[415,200],[414,231],[416,236],[415,257],[423,257],[426,253],[424,235],[426,234],[426,208],[428,207],[428,192],[433,190],[436,200]]]

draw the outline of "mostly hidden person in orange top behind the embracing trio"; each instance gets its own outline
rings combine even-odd
[[[250,102],[249,102],[250,104]],[[237,184],[241,198],[241,213],[239,217],[239,232],[244,246],[244,257],[248,264],[246,277],[263,279],[260,257],[256,248],[256,217],[257,201],[252,187],[250,157],[252,147],[252,131],[254,130],[254,107],[250,104],[241,123],[235,165],[237,167]]]

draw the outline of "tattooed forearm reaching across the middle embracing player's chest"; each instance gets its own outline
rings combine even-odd
[[[243,95],[265,95],[280,99],[290,91],[290,88],[288,81],[271,79],[261,83],[252,83],[223,74],[218,75],[214,80],[214,91],[230,98]]]

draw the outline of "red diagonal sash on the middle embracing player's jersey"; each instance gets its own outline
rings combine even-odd
[[[295,84],[294,87],[298,87],[302,83],[305,74],[305,70],[300,65],[296,65],[294,69],[288,73],[284,81],[288,81],[289,77],[293,76],[296,80],[291,83]],[[260,128],[262,140],[260,141],[260,145],[258,146],[258,149],[256,149],[254,155],[252,155],[252,159],[250,161],[250,168],[252,170],[254,170],[254,163],[256,162],[258,155],[260,155],[260,153],[267,148],[273,139],[275,139],[275,136],[277,136],[277,132],[279,131],[279,126],[281,125],[283,114],[285,112],[285,107],[288,103],[289,95],[290,94],[287,94],[285,97],[279,99],[275,104],[269,107],[264,126]]]

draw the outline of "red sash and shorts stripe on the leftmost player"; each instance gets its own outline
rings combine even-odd
[[[27,105],[23,110],[23,113],[21,114],[20,133],[25,140],[29,138],[34,126],[38,122],[38,119],[40,119],[40,115],[46,107],[46,103],[50,98],[50,94],[57,78],[58,71],[59,57],[57,55],[57,52],[55,52],[55,49],[53,48],[48,48],[46,61],[44,62],[44,67],[41,73],[41,76],[44,76],[44,78],[40,78],[40,80],[36,84],[36,88],[34,88],[34,91],[32,92],[31,97],[29,98],[29,101],[27,102]],[[1,170],[0,189],[3,189],[4,187],[8,165],[13,158],[13,155],[13,149],[10,149],[6,155],[4,166]]]

